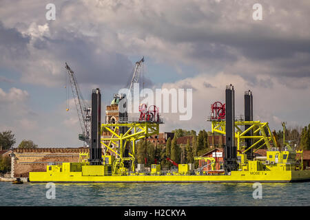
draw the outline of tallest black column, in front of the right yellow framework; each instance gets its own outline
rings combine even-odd
[[[226,144],[224,149],[225,173],[238,168],[237,148],[235,145],[235,91],[233,85],[226,86],[225,94],[226,109]]]

